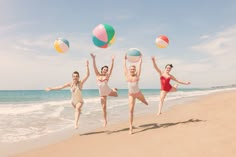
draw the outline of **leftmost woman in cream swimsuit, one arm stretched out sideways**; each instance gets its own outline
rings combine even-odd
[[[78,128],[79,126],[79,117],[80,117],[80,113],[81,113],[81,108],[84,104],[83,101],[83,97],[82,97],[82,89],[83,89],[83,85],[85,83],[85,81],[88,79],[89,77],[89,62],[86,62],[86,67],[87,67],[87,73],[86,76],[80,80],[79,78],[79,73],[77,71],[73,72],[72,74],[72,82],[66,83],[62,86],[58,86],[58,87],[49,87],[46,88],[46,91],[51,91],[51,90],[61,90],[67,87],[71,88],[71,104],[75,109],[75,129]]]

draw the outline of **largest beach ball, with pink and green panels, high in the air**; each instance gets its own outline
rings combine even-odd
[[[93,43],[100,48],[107,48],[115,41],[115,30],[108,24],[99,24],[93,29]]]

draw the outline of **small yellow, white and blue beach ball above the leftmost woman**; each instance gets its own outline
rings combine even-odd
[[[54,42],[54,48],[59,53],[64,53],[68,51],[69,47],[70,47],[69,41],[64,38],[58,38]]]

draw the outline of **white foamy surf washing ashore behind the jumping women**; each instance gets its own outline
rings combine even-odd
[[[195,91],[182,90],[169,93],[167,101],[229,90],[235,90],[235,88]],[[145,97],[151,103],[159,101],[158,94],[148,94],[145,95]],[[84,101],[81,119],[84,121],[90,120],[90,122],[84,122],[85,124],[96,124],[97,120],[102,119],[100,98],[85,98]],[[140,102],[137,101],[137,103]],[[137,105],[136,113],[139,112],[138,109],[142,110],[140,112],[148,112],[150,107]],[[123,112],[124,109],[128,110],[127,96],[108,98],[107,110],[109,116],[124,116],[126,115],[126,112]],[[91,118],[88,119],[87,117]],[[114,119],[114,117],[111,118]],[[40,136],[72,127],[73,124],[74,108],[71,106],[70,100],[0,105],[0,142],[14,143],[28,139],[36,139]]]

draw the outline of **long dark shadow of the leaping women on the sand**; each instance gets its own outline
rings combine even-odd
[[[150,123],[150,124],[144,124],[144,125],[139,125],[138,127],[134,127],[134,129],[141,129],[141,130],[134,131],[133,134],[141,133],[141,132],[152,130],[152,129],[168,128],[168,127],[175,126],[175,125],[180,125],[180,124],[196,123],[196,122],[204,122],[204,121],[206,121],[206,120],[189,119],[187,121],[176,122],[176,123],[163,123],[163,124]],[[129,130],[129,128],[123,128],[123,129],[114,130],[114,131],[97,131],[97,132],[90,132],[90,133],[85,133],[85,134],[81,134],[81,135],[91,135],[91,134],[101,134],[101,133],[113,134],[113,133],[118,133],[118,132],[128,131],[128,130]]]

